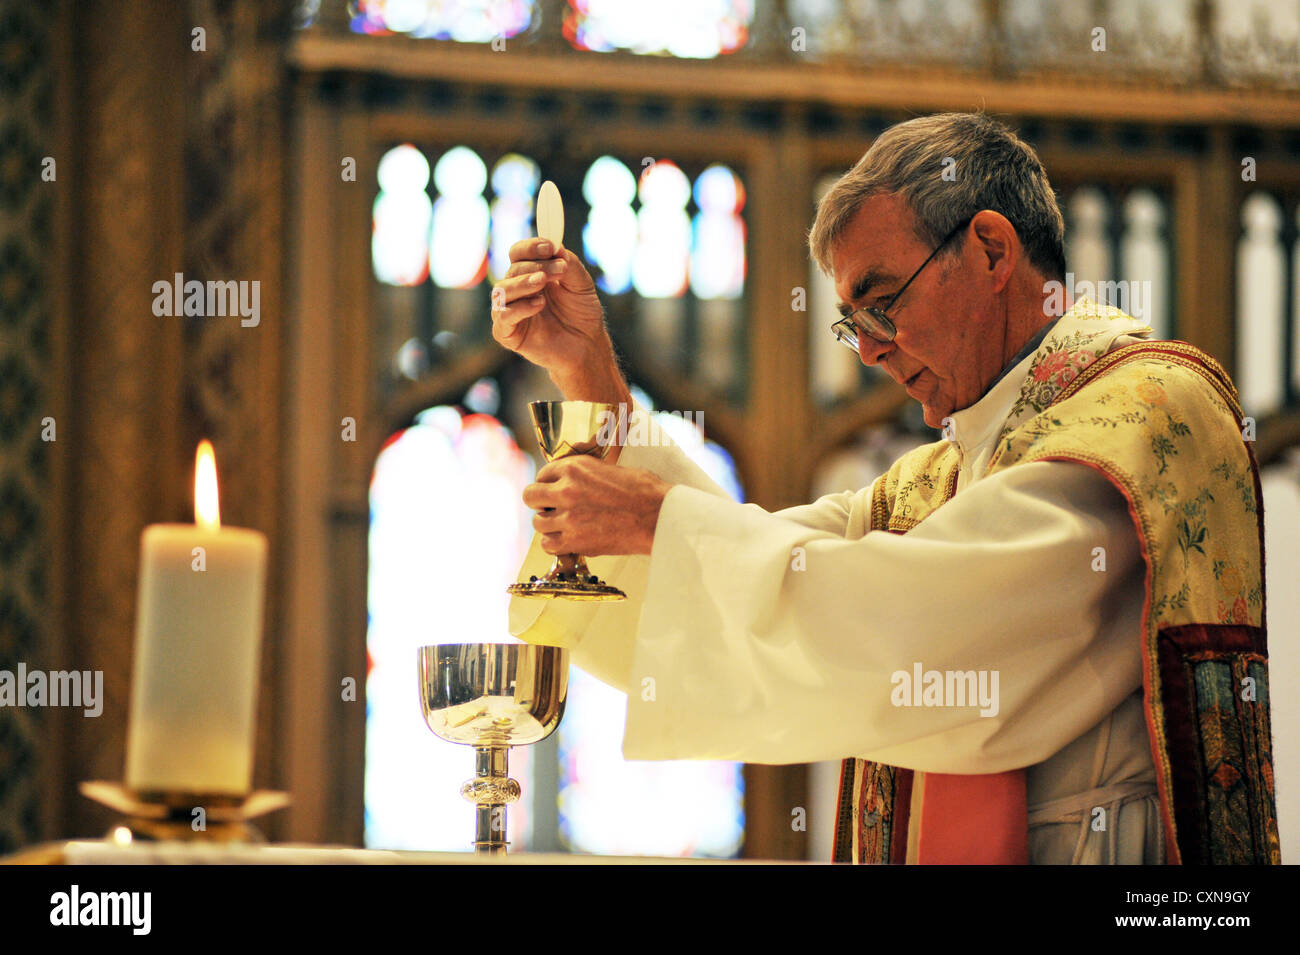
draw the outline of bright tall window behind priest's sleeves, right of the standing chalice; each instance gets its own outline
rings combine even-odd
[[[653,408],[645,392],[637,400]],[[656,416],[670,437],[736,500],[736,466],[684,414]],[[627,696],[573,668],[558,730],[559,829],[575,852],[731,858],[745,833],[738,763],[623,759]]]

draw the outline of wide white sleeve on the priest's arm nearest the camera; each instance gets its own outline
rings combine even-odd
[[[1008,468],[906,535],[855,541],[675,487],[636,621],[624,755],[1040,763],[1141,685],[1143,595],[1127,504],[1080,464]],[[997,712],[896,706],[894,674],[918,665],[996,672]]]

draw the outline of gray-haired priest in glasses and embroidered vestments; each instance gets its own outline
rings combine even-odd
[[[994,120],[883,133],[810,247],[831,334],[942,437],[775,513],[638,420],[578,257],[511,249],[495,339],[646,437],[524,494],[523,573],[585,554],[628,600],[511,605],[628,694],[627,758],[841,759],[840,861],[1278,861],[1249,422],[1210,356],[1070,300],[1063,231]]]

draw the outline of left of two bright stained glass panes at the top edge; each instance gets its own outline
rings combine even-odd
[[[533,0],[358,0],[352,32],[490,43],[533,21]]]

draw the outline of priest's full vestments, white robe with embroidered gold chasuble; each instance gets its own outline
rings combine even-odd
[[[841,861],[1278,861],[1235,388],[1086,299],[1040,334],[871,487],[775,513],[637,409],[619,465],[676,486],[649,556],[592,561],[629,599],[511,631],[628,693],[628,759],[842,759]]]

